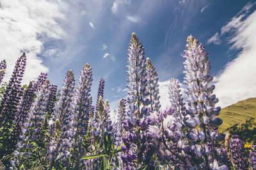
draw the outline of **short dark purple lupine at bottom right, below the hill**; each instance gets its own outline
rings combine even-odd
[[[244,143],[237,135],[232,136],[229,143],[231,162],[236,169],[248,169],[248,159],[244,151]]]

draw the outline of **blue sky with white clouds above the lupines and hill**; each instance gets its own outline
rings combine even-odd
[[[0,59],[10,77],[27,52],[24,83],[41,71],[61,87],[68,69],[79,76],[88,62],[92,96],[101,77],[111,110],[126,96],[127,49],[132,32],[159,74],[161,104],[168,80],[183,81],[182,53],[190,34],[209,51],[220,106],[256,97],[256,4],[240,0],[0,0]]]

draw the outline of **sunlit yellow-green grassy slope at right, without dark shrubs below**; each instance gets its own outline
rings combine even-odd
[[[239,101],[221,109],[219,117],[223,120],[223,124],[219,127],[220,132],[233,125],[242,124],[251,117],[255,118],[253,127],[256,126],[256,98]]]

